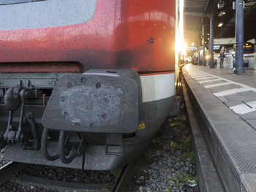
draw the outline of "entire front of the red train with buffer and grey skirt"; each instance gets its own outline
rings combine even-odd
[[[175,1],[0,1],[4,158],[116,169],[146,147],[175,90]]]

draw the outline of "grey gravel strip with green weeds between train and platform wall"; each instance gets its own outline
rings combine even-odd
[[[165,120],[162,128],[140,155],[127,192],[199,191],[182,98],[180,110],[175,118]]]

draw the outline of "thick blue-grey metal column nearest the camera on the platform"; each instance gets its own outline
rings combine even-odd
[[[244,73],[244,1],[236,0],[236,67],[234,73]]]

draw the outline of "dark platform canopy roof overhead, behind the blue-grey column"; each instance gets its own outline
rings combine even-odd
[[[218,9],[219,1],[224,1],[224,7]],[[236,10],[233,9],[236,0],[184,0],[184,38],[188,44],[201,42],[202,25],[205,26],[206,44],[209,33],[207,15],[214,15],[214,38],[235,37]],[[224,14],[223,14],[224,12]],[[256,0],[244,0],[244,41],[256,37]],[[221,27],[219,23],[222,23]]]

